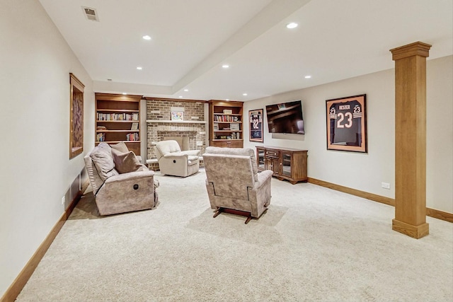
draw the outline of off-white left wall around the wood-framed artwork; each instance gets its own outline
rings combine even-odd
[[[64,212],[84,169],[69,160],[69,73],[85,84],[84,152],[93,148],[93,84],[38,1],[0,1],[0,296]]]

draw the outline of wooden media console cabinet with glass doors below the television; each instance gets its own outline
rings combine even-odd
[[[272,170],[279,180],[289,180],[293,185],[306,182],[307,150],[283,147],[257,146],[258,171]]]

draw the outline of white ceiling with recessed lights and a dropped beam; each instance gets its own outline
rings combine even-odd
[[[453,54],[453,0],[40,3],[96,92],[253,100],[391,69],[389,50],[411,42],[432,45],[428,59]]]

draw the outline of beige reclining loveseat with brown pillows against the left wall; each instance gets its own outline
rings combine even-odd
[[[84,157],[99,214],[152,209],[157,203],[154,171],[139,163],[124,143],[96,146]]]

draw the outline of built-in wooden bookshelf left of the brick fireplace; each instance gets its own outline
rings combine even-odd
[[[128,149],[140,155],[141,99],[142,95],[96,93],[96,146],[102,141],[124,141]]]

